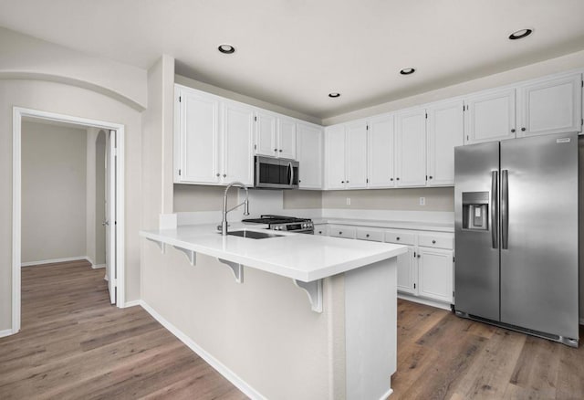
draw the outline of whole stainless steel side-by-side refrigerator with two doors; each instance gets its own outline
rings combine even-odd
[[[578,135],[454,149],[454,311],[579,341]]]

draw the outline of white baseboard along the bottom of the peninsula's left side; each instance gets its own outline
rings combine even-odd
[[[191,338],[189,338],[184,332],[179,330],[171,322],[167,321],[159,314],[157,311],[151,308],[145,301],[139,300],[141,307],[147,311],[154,320],[159,321],[164,328],[171,332],[178,340],[186,344],[194,353],[197,353],[206,363],[211,365],[215,371],[222,374],[225,379],[234,384],[237,389],[241,390],[244,395],[252,399],[262,399],[266,400],[266,397],[257,392],[253,387],[247,384],[243,379],[241,379],[237,374],[227,368],[223,363],[214,358],[213,355],[205,352],[201,346],[195,343]]]

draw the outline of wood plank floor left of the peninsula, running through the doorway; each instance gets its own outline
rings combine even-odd
[[[22,269],[22,329],[0,339],[0,399],[245,399],[86,261]]]

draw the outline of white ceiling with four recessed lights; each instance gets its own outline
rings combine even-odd
[[[140,68],[168,54],[318,119],[579,51],[582,16],[582,0],[0,0],[0,26]]]

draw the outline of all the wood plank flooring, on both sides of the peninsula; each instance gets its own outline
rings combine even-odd
[[[111,306],[103,274],[85,261],[23,268],[22,330],[0,339],[0,399],[246,398],[141,307]],[[391,400],[582,399],[584,346],[399,300],[391,385]]]

